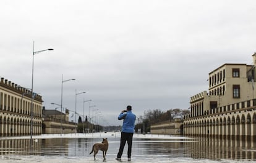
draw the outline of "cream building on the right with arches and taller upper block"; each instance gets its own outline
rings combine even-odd
[[[208,92],[190,97],[184,135],[256,137],[256,54],[253,65],[226,63],[209,73]]]

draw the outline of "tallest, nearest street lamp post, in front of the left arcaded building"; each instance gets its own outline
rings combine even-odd
[[[35,41],[33,41],[33,61],[32,61],[32,86],[31,86],[31,106],[30,106],[30,141],[32,141],[32,135],[33,135],[33,100],[35,98],[35,95],[33,93],[33,80],[34,80],[34,55],[39,54],[41,52],[45,52],[47,50],[53,50],[53,49],[45,49],[45,50],[39,50],[35,51]]]

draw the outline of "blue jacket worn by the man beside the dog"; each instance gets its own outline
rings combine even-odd
[[[136,119],[135,114],[132,113],[132,111],[120,113],[118,116],[118,120],[122,119],[124,119],[124,122],[122,123],[122,132],[134,133]]]

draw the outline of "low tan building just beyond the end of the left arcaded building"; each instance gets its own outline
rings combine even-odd
[[[77,125],[69,122],[69,110],[62,113],[56,109],[43,108],[42,133],[75,133]]]

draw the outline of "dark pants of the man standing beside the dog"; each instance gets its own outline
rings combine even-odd
[[[134,133],[126,133],[126,132],[121,133],[121,143],[120,143],[120,147],[119,147],[119,152],[117,154],[117,158],[121,158],[122,152],[124,151],[124,146],[126,145],[126,141],[128,143],[127,156],[128,156],[128,158],[130,158],[130,156],[132,154],[132,137],[133,137],[133,135],[134,135]]]

